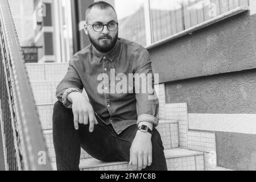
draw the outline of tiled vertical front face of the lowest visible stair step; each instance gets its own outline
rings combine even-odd
[[[168,171],[204,171],[204,156],[187,156],[183,158],[166,159]],[[116,164],[104,167],[81,168],[82,171],[131,171],[126,164]]]

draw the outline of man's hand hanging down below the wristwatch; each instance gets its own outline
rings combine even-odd
[[[150,133],[144,133],[140,130],[131,144],[130,148],[130,163],[133,166],[133,171],[141,171],[147,166],[152,164],[152,135]]]

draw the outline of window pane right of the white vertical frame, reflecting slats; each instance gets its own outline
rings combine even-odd
[[[248,0],[150,0],[152,42],[248,5]]]

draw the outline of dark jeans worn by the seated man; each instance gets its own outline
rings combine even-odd
[[[89,125],[79,125],[75,130],[72,109],[67,109],[57,101],[53,108],[53,144],[57,170],[79,170],[82,147],[89,155],[104,162],[129,162],[130,147],[137,125],[128,127],[121,134],[115,133],[112,125],[105,125],[100,118],[89,133]],[[167,164],[160,134],[156,129],[152,134],[152,165],[145,171],[166,171]]]

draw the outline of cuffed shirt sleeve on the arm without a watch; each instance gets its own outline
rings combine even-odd
[[[73,59],[69,61],[68,71],[56,89],[57,100],[62,102],[63,105],[69,109],[72,108],[72,102],[68,101],[68,94],[72,92],[82,93],[83,88],[74,63],[76,59],[77,58],[74,56]]]

